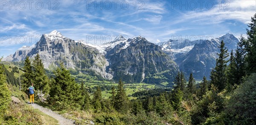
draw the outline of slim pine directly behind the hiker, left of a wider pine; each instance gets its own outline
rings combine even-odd
[[[26,56],[24,67],[23,67],[23,72],[24,73],[21,76],[21,78],[22,78],[21,86],[22,86],[22,90],[24,92],[27,92],[27,88],[31,85],[32,78],[33,78],[32,66],[31,66],[31,62],[29,60],[29,56]]]

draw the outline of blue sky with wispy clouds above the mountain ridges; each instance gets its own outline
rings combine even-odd
[[[116,35],[143,35],[152,43],[177,36],[205,39],[232,33],[239,37],[255,13],[255,0],[1,0],[0,55],[32,46],[53,30],[90,44],[113,40]],[[89,35],[99,40],[88,41]]]

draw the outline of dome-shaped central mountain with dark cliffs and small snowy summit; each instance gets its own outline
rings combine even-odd
[[[176,63],[159,46],[142,37],[128,39],[115,46],[107,52],[106,58],[110,62],[108,73],[116,80],[171,83],[178,71]]]

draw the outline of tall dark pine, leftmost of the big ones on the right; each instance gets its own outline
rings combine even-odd
[[[228,52],[225,47],[224,41],[221,41],[220,53],[216,59],[216,67],[211,72],[211,83],[218,88],[219,91],[223,90],[227,85],[227,60]]]

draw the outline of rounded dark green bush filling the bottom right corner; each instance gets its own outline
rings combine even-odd
[[[256,73],[234,90],[224,112],[227,124],[256,124]]]

